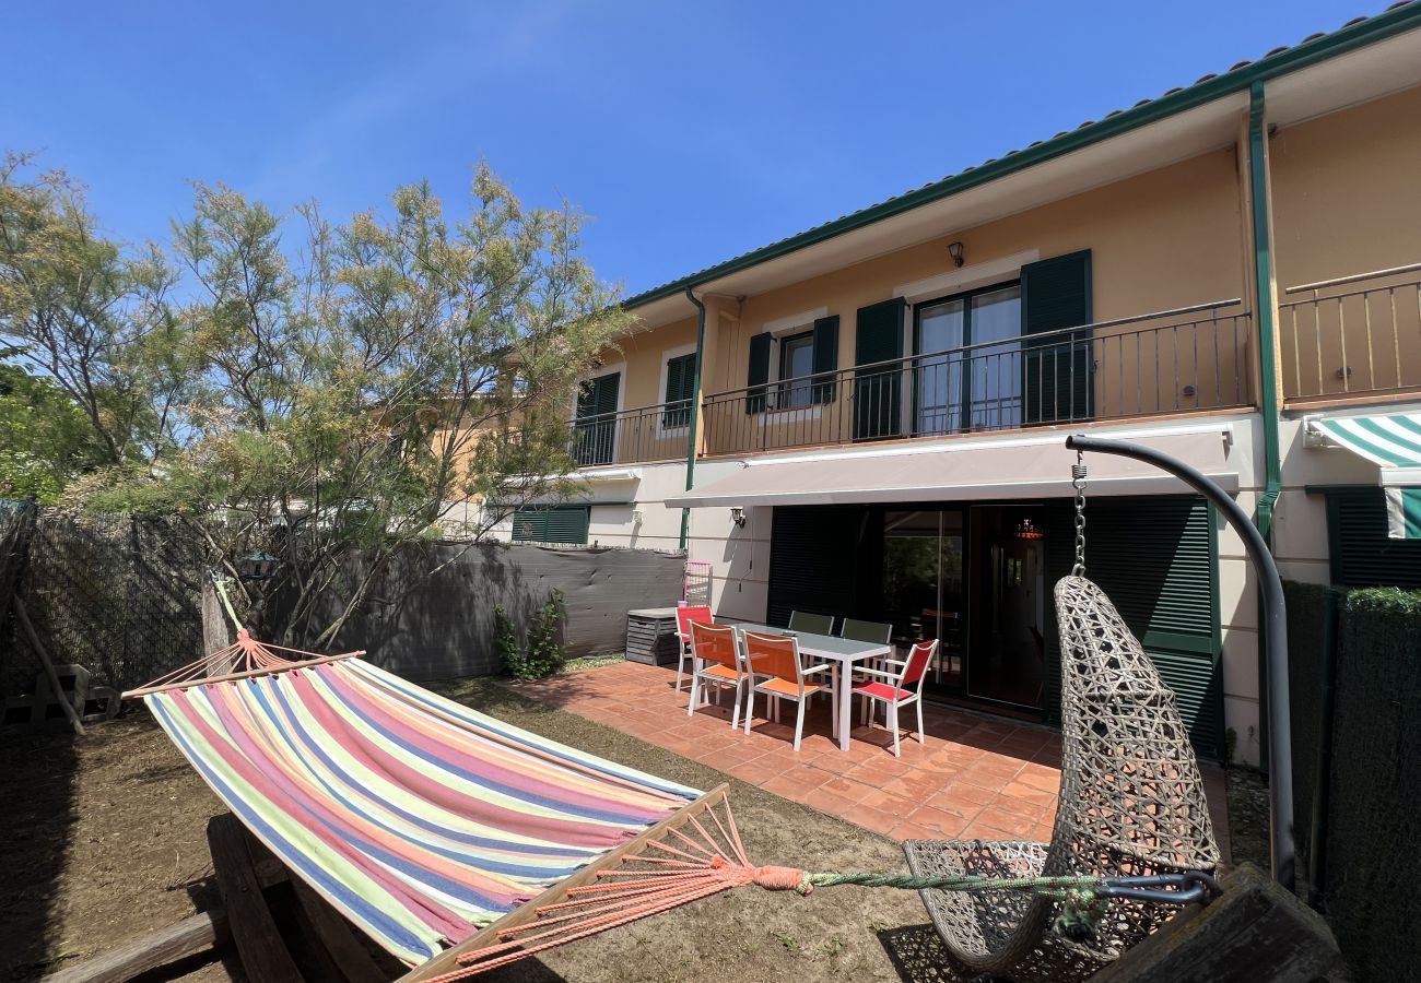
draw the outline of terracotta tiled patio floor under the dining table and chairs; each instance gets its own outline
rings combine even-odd
[[[730,730],[729,700],[688,717],[675,676],[675,668],[621,662],[510,686],[894,840],[1050,840],[1060,784],[1054,730],[928,703],[925,743],[905,736],[895,759],[882,726],[855,724],[848,751],[838,750],[828,700],[817,700],[796,753],[784,723],[756,716],[752,733]],[[1202,770],[1228,858],[1223,770]]]

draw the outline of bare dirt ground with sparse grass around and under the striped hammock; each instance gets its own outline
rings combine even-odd
[[[529,730],[698,788],[726,781],[489,680],[442,689]],[[0,736],[0,827],[9,832],[0,838],[0,980],[37,979],[216,903],[205,831],[225,807],[142,712],[78,740],[67,732]],[[890,840],[755,786],[730,780],[730,787],[746,849],[762,864],[904,869]],[[926,920],[911,892],[740,891],[483,979],[953,980]],[[168,979],[234,974],[219,962],[179,967]]]

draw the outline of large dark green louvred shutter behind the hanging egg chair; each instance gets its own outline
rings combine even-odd
[[[1070,503],[1047,514],[1047,582],[1074,561]],[[1174,690],[1195,753],[1223,757],[1223,672],[1214,509],[1198,496],[1148,499],[1096,496],[1086,504],[1086,575],[1120,617]],[[1054,611],[1052,614],[1054,622]],[[1060,641],[1047,631],[1047,699],[1060,719]]]

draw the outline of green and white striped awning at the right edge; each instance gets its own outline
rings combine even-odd
[[[1322,416],[1309,423],[1319,436],[1381,469],[1387,536],[1421,540],[1421,413]]]

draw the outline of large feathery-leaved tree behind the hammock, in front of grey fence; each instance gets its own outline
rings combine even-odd
[[[391,560],[442,536],[452,510],[482,503],[465,530],[476,540],[577,487],[576,388],[628,325],[578,253],[581,222],[522,206],[486,166],[462,222],[428,185],[344,226],[314,205],[283,217],[199,186],[173,226],[190,295],[155,310],[155,340],[128,368],[144,382],[121,389],[148,393],[134,419],[156,425],[152,452],[72,499],[190,517],[232,574],[277,557],[270,580],[237,581],[249,621],[333,645]]]

